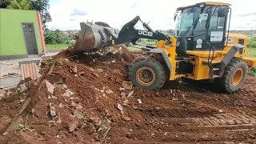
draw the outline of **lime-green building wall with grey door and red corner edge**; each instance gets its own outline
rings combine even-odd
[[[37,11],[0,9],[0,59],[42,55],[45,50]]]

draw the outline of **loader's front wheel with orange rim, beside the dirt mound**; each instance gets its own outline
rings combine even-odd
[[[128,77],[134,86],[145,90],[159,90],[166,82],[166,71],[156,58],[142,57],[134,59]]]

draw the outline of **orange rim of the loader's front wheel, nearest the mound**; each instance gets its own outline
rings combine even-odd
[[[136,72],[136,79],[138,83],[143,86],[150,86],[152,83],[154,83],[155,78],[156,74],[154,73],[154,70],[148,66],[143,66]]]

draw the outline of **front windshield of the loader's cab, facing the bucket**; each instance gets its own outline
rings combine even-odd
[[[190,28],[190,26],[196,21],[198,14],[200,14],[200,7],[192,7],[183,10],[178,16],[178,22],[175,28],[175,35],[181,35]]]

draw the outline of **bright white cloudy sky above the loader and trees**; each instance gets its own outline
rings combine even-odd
[[[230,30],[256,29],[256,2],[252,0],[214,0],[232,4]],[[79,30],[80,22],[106,22],[113,28],[122,28],[135,16],[150,22],[153,30],[175,28],[174,12],[177,7],[193,5],[198,0],[50,0],[51,30]],[[142,28],[142,23],[136,25]]]

